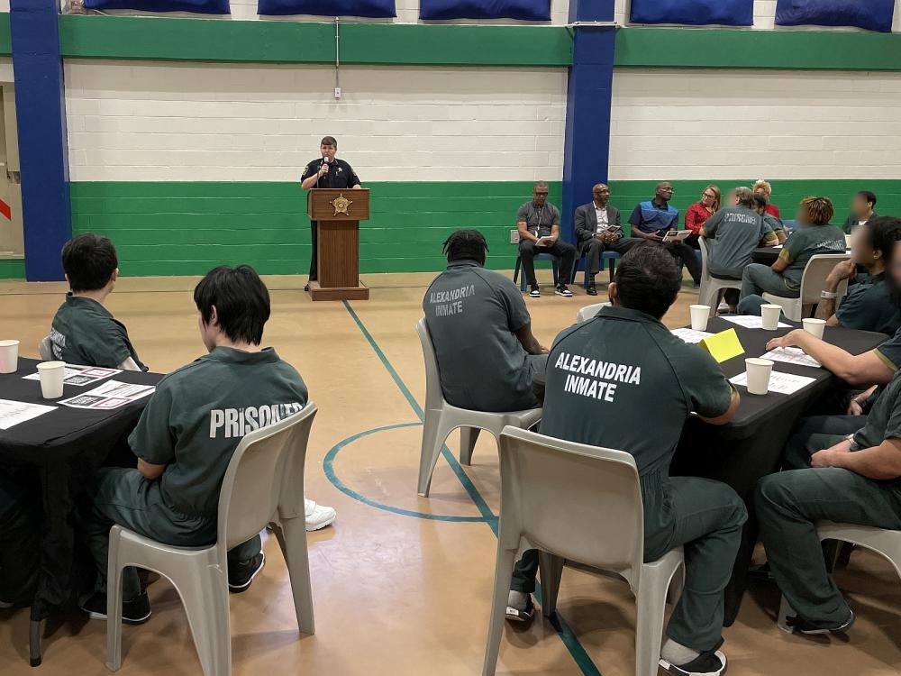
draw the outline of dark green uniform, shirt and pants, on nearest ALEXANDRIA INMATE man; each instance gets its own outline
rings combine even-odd
[[[605,307],[560,333],[546,379],[542,434],[634,456],[642,482],[644,560],[685,547],[686,587],[669,637],[699,652],[718,647],[723,590],[747,511],[724,483],[669,477],[669,462],[688,415],[724,415],[732,386],[706,352],[650,315],[622,307]],[[531,593],[537,571],[537,553],[525,553],[511,588]]]

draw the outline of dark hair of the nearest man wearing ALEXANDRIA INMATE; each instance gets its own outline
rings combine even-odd
[[[660,244],[642,242],[616,266],[617,301],[660,319],[667,314],[682,287],[676,261]]]

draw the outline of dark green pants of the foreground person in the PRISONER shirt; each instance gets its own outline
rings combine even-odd
[[[149,481],[138,470],[107,467],[97,475],[93,503],[84,519],[87,545],[97,566],[95,590],[106,593],[106,563],[109,533],[114,524],[177,547],[199,547],[216,541],[216,519],[187,516],[170,506],[159,488],[159,481]],[[247,561],[260,551],[259,535],[229,552],[230,561]],[[123,598],[141,593],[137,571],[125,569]]]

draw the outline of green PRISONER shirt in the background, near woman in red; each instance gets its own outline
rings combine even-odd
[[[751,251],[776,240],[763,218],[743,206],[720,209],[707,219],[704,232],[712,240],[707,259],[711,274],[734,279],[742,279],[742,271],[751,263]]]

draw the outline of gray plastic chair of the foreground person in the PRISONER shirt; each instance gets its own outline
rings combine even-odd
[[[267,524],[287,562],[297,626],[314,633],[310,562],[306,550],[304,462],[316,406],[243,438],[219,494],[218,535],[208,547],[160,544],[114,525],[110,531],[106,598],[106,666],[122,666],[122,577],[126,566],[164,575],[185,604],[205,676],[232,672],[226,553]]]

